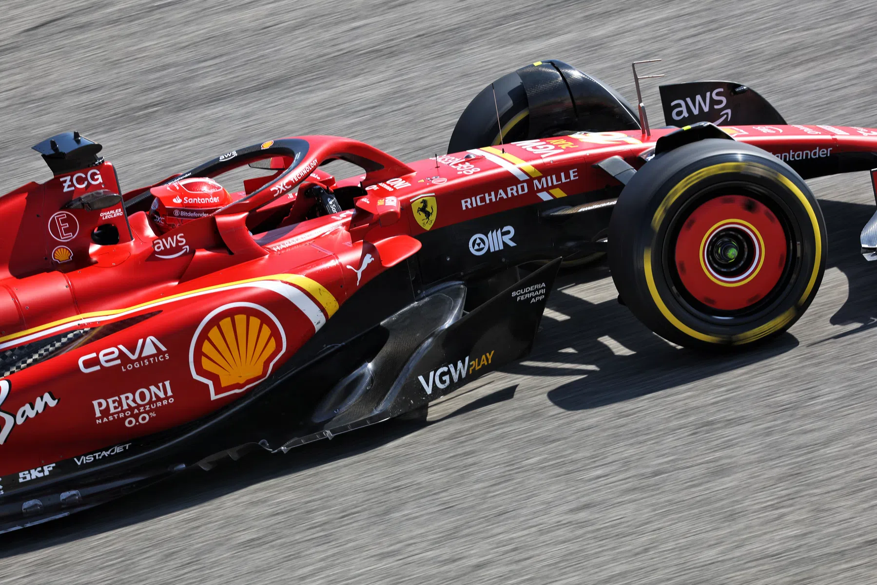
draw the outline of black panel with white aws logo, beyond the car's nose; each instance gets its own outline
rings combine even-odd
[[[697,122],[721,125],[784,125],[786,121],[754,89],[731,81],[690,81],[660,86],[668,125]]]

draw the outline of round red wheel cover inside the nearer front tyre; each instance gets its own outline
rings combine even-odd
[[[774,212],[745,195],[703,202],[676,237],[674,261],[686,292],[719,311],[758,303],[780,282],[788,235]]]

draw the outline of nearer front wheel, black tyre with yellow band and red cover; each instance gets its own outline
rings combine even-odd
[[[652,159],[612,212],[612,278],[665,339],[734,349],[790,328],[822,282],[826,234],[807,184],[749,144],[707,139]]]

